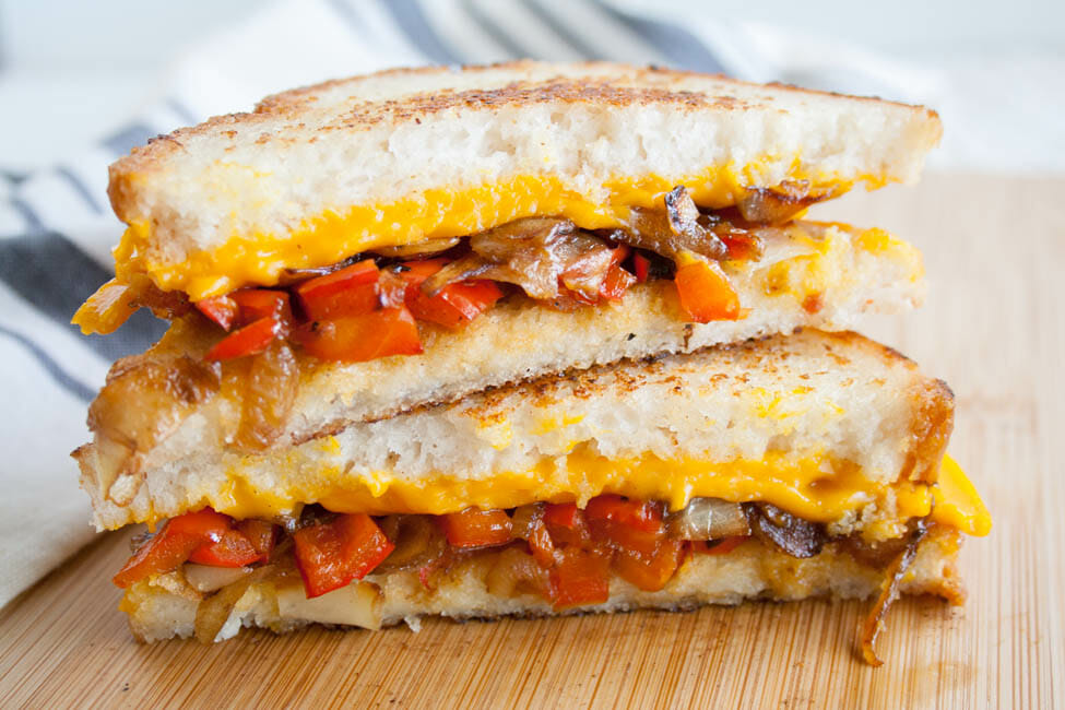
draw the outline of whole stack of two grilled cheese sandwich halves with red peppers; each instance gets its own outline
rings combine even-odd
[[[847,329],[920,255],[803,220],[912,181],[930,110],[590,63],[272,96],[111,167],[129,225],[78,312],[171,326],[74,455],[154,534],[133,634],[747,599],[960,601],[986,512],[952,398]]]

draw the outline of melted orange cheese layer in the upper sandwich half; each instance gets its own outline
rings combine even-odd
[[[874,180],[866,182],[872,186]],[[756,184],[756,176],[731,168],[686,178],[649,175],[593,186],[592,191],[603,196],[593,200],[587,190],[578,191],[557,177],[525,175],[505,184],[433,189],[388,204],[330,211],[285,234],[234,234],[221,247],[177,263],[149,258],[152,227],[135,222],[115,251],[117,275],[129,283],[134,274],[146,273],[159,288],[184,291],[200,300],[248,284],[273,285],[284,269],[324,267],[365,250],[466,236],[521,217],[557,215],[585,229],[618,227],[632,208],[661,202],[677,185],[689,186],[699,205],[723,208],[736,203],[747,191],[745,185]],[[814,184],[810,192],[839,194],[849,188],[849,182],[825,180]]]

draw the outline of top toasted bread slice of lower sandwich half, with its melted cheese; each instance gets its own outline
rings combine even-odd
[[[950,390],[898,353],[808,330],[489,390],[280,451],[186,447],[110,488],[90,453],[82,485],[103,528],[204,505],[235,518],[308,502],[440,514],[617,493],[672,509],[767,501],[891,537],[932,509],[952,413]]]

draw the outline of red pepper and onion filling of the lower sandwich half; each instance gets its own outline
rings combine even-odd
[[[938,478],[932,486],[935,509],[909,517],[880,540],[764,500],[714,497],[691,498],[673,511],[665,501],[616,494],[583,506],[533,502],[440,516],[340,513],[309,505],[289,516],[234,519],[203,508],[138,539],[114,581],[127,589],[123,605],[134,618],[152,589],[188,600],[196,607],[194,634],[210,643],[252,587],[259,596],[263,589],[276,595],[271,614],[279,627],[322,622],[378,628],[381,589],[395,584],[419,597],[423,610],[440,604],[437,597],[449,593],[443,590],[458,576],[475,579],[500,604],[533,599],[558,613],[606,604],[619,584],[647,593],[676,587],[702,556],[754,553],[771,566],[782,556],[815,564],[824,557],[827,565],[845,558],[884,580],[862,634],[864,652],[877,662],[873,641],[879,620],[899,585],[912,579],[907,572],[919,546],[938,537],[956,551],[958,532],[987,532],[986,510],[949,458]],[[798,594],[788,579],[779,576],[780,589],[771,594]],[[294,584],[301,584],[300,592]],[[955,602],[962,596],[946,578],[926,591]]]

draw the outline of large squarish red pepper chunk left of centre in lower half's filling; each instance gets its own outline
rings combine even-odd
[[[362,579],[395,548],[365,513],[338,516],[293,533],[296,567],[307,597],[321,596]]]

